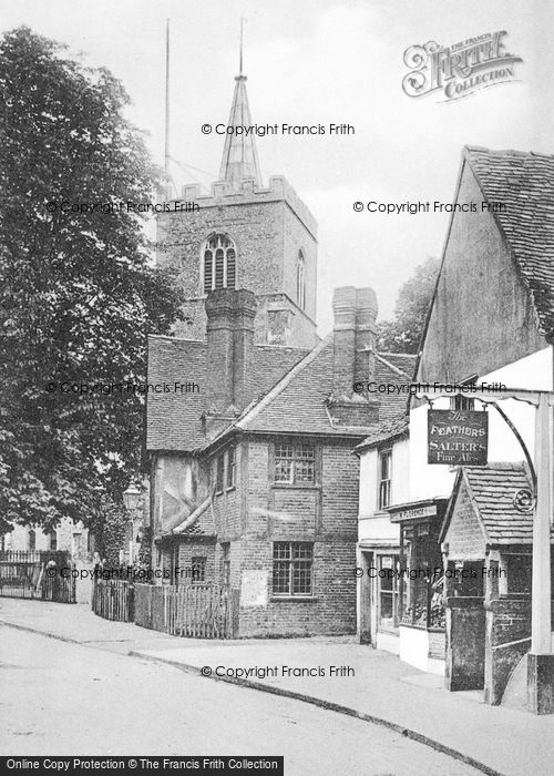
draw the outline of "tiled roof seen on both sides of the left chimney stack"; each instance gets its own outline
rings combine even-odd
[[[265,395],[307,350],[256,346],[253,382]],[[206,343],[175,337],[148,337],[148,384],[167,384],[167,392],[148,392],[148,450],[194,450],[206,443],[201,417],[206,409]],[[199,394],[174,391],[176,381],[196,382]]]

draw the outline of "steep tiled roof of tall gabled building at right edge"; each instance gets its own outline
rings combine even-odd
[[[554,156],[466,147],[470,164],[512,248],[543,335],[554,331]]]

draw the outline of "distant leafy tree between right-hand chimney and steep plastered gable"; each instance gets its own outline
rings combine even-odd
[[[381,320],[377,327],[381,353],[418,353],[439,267],[439,259],[429,256],[401,286],[394,318]]]

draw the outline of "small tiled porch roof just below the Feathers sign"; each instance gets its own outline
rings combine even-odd
[[[447,514],[451,514],[461,482],[465,481],[491,544],[530,544],[533,541],[533,512],[519,512],[514,496],[533,490],[524,463],[489,463],[486,467],[461,467]],[[448,517],[447,517],[448,521]],[[444,538],[448,523],[442,529]]]

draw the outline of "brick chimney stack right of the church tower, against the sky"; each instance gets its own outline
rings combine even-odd
[[[375,376],[377,297],[372,288],[343,286],[332,297],[335,315],[334,381],[336,401],[350,400],[355,382],[365,387]],[[367,391],[363,390],[367,396]],[[358,395],[357,395],[358,396]]]

